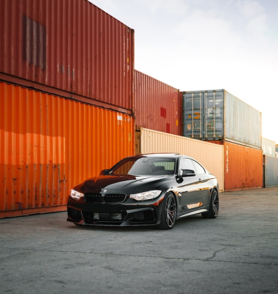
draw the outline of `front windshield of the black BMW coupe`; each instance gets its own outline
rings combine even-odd
[[[173,175],[176,159],[164,157],[142,157],[124,159],[116,164],[109,175]]]

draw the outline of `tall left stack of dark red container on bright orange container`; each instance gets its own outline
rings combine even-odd
[[[134,154],[134,32],[86,0],[3,0],[0,218],[66,209]]]

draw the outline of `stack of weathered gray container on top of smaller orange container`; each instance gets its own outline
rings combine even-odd
[[[263,187],[261,112],[224,89],[183,92],[183,135],[224,146],[224,191]]]

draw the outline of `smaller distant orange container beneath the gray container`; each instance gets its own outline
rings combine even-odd
[[[231,142],[224,146],[224,191],[263,188],[263,150]]]

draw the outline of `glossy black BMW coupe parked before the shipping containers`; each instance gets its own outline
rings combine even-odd
[[[170,230],[179,218],[216,218],[219,186],[195,159],[179,154],[126,157],[77,184],[67,200],[76,225],[152,225]]]

